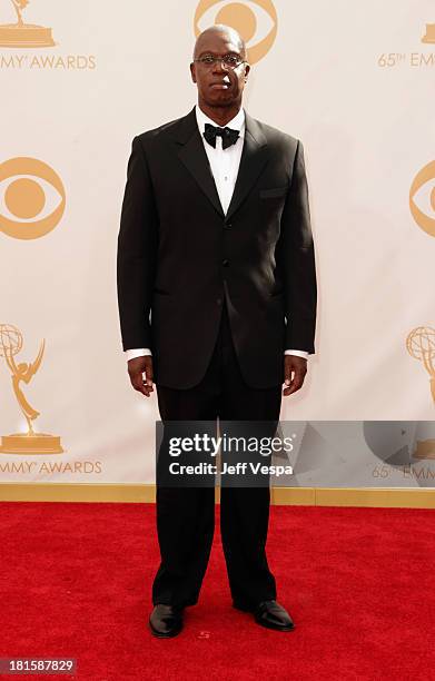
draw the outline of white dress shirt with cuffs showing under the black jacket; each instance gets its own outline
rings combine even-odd
[[[215,178],[216,189],[220,199],[220,204],[224,210],[224,214],[227,214],[234,188],[236,185],[236,179],[238,175],[238,169],[240,165],[241,151],[244,148],[244,139],[245,139],[245,111],[243,108],[239,109],[238,114],[227,122],[227,127],[233,130],[239,131],[239,137],[235,145],[223,149],[223,138],[216,137],[216,148],[206,141],[204,137],[204,131],[206,124],[210,124],[216,127],[216,122],[208,118],[201,111],[201,109],[196,106],[196,119],[198,124],[198,129],[201,134],[201,139],[204,142],[204,148],[207,154],[207,158],[210,164],[211,174]],[[297,355],[298,357],[308,357],[308,353],[305,351],[293,351],[286,349],[286,355]],[[144,355],[151,355],[151,351],[149,347],[141,347],[135,349],[126,351],[127,361],[134,359],[135,357],[142,357]]]

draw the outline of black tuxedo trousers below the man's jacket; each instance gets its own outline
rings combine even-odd
[[[200,383],[186,389],[156,384],[156,389],[162,422],[279,420],[281,385],[253,388],[241,376],[225,298],[216,345]],[[267,485],[221,486],[220,533],[229,588],[233,602],[245,608],[276,599],[266,557],[269,504]],[[152,602],[194,605],[212,544],[215,488],[157,485],[156,506],[161,562]]]

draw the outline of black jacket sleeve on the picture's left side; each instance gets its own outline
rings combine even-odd
[[[117,285],[122,348],[151,348],[150,308],[158,213],[142,144],[132,141],[118,234]]]

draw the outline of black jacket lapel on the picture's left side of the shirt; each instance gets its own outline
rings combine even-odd
[[[198,130],[195,108],[181,119],[177,131],[177,142],[181,145],[178,157],[194,176],[200,189],[224,217],[224,210],[216,189],[215,179],[208,162],[204,142]]]

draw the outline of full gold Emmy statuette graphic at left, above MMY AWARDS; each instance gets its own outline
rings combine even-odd
[[[32,422],[39,416],[39,412],[33,409],[28,403],[20,387],[21,382],[30,383],[39,369],[42,362],[45,343],[42,340],[33,363],[20,362],[17,364],[14,355],[22,348],[22,335],[16,326],[0,324],[0,356],[4,357],[11,371],[13,392],[28,424],[27,433],[13,433],[12,435],[2,436],[0,452],[3,454],[60,454],[63,452],[59,436],[36,433],[33,431]]]

